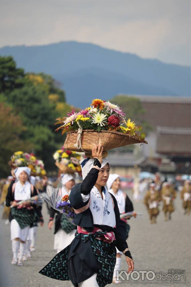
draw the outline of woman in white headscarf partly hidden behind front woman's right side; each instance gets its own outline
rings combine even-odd
[[[133,211],[133,203],[129,199],[126,193],[124,193],[121,189],[121,178],[119,174],[110,174],[109,179],[107,181],[107,189],[108,191],[115,196],[115,199],[117,200],[117,205],[119,208],[120,214],[127,213],[127,212],[132,212]],[[136,217],[136,212],[133,214]],[[129,218],[128,218],[129,219]],[[126,223],[126,228],[127,228],[127,238],[128,238],[128,233],[130,230],[129,224],[127,224],[127,218],[123,219]],[[123,254],[121,251],[117,250],[117,255],[116,255],[116,264],[113,272],[113,283],[118,284],[121,283],[121,281],[117,280],[117,270],[120,270],[121,267],[121,255]]]

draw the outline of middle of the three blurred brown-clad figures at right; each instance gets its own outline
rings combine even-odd
[[[176,198],[176,191],[172,187],[172,183],[163,183],[161,194],[163,199],[163,211],[165,220],[167,221],[171,219],[171,213],[174,212],[173,201]]]

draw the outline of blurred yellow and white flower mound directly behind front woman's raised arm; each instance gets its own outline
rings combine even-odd
[[[53,158],[56,161],[56,166],[63,172],[81,172],[79,160],[82,159],[82,153],[73,152],[62,147],[53,154]]]

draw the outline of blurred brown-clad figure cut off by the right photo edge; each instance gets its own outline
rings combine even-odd
[[[191,213],[191,182],[190,180],[185,180],[184,187],[180,193],[181,199],[183,199],[184,214]]]

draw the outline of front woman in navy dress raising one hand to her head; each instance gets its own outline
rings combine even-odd
[[[134,269],[125,222],[120,219],[115,197],[105,187],[110,166],[102,152],[100,145],[95,146],[93,158],[80,162],[83,182],[70,192],[77,225],[74,240],[40,271],[50,278],[71,280],[75,287],[104,287],[112,283],[115,246],[125,255],[128,272]]]

